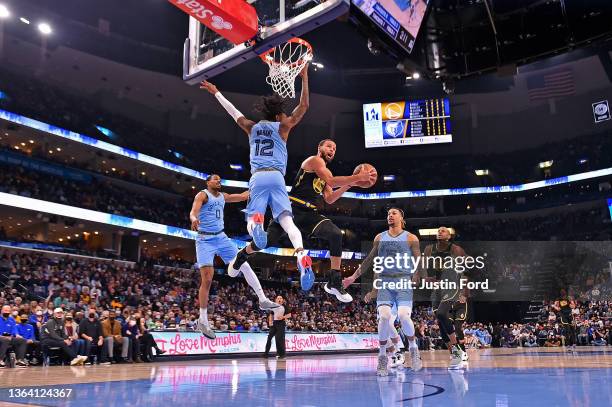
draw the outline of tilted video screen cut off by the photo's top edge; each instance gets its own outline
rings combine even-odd
[[[429,0],[353,0],[366,16],[408,53],[423,23]]]

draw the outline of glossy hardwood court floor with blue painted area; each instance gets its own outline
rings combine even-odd
[[[425,368],[376,377],[376,355],[208,359],[153,364],[0,370],[0,405],[91,406],[609,406],[612,347],[470,351],[462,371],[448,353]],[[15,389],[72,389],[72,398],[15,398]],[[11,389],[12,396],[11,397]]]

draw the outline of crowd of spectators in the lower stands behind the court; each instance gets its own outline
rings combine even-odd
[[[26,353],[30,362],[37,363],[43,358],[41,350],[55,345],[72,363],[151,361],[154,349],[155,354],[161,353],[151,331],[195,328],[198,281],[196,274],[186,276],[186,272],[30,251],[2,252],[0,329],[13,343],[5,343],[6,339],[0,343],[0,359],[12,345],[18,353],[17,366],[26,367]],[[264,281],[264,291],[270,298],[281,295],[286,299],[292,310],[289,331],[376,332],[373,304],[360,300],[338,303],[318,286],[302,292],[286,283]],[[577,304],[573,313],[578,344],[612,343],[612,303]],[[216,276],[208,315],[211,325],[220,331],[269,329],[267,315],[258,310],[256,296],[241,279]],[[421,349],[444,348],[429,305],[416,306],[413,320]],[[51,327],[57,336],[49,336],[45,327]],[[464,333],[468,347],[560,346],[568,334],[550,303],[537,321],[473,322],[464,326]]]

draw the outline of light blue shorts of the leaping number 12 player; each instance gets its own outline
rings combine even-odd
[[[256,213],[265,214],[270,207],[272,217],[276,220],[283,212],[291,215],[291,202],[285,188],[285,177],[280,171],[260,171],[249,180],[249,202],[247,216]]]

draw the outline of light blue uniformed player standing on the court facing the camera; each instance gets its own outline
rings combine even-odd
[[[374,289],[377,292],[376,306],[378,308],[378,337],[380,342],[377,368],[379,376],[388,375],[387,341],[392,334],[391,323],[395,320],[392,317],[394,305],[397,306],[397,316],[401,321],[402,331],[408,338],[412,370],[419,371],[423,367],[416,343],[414,322],[411,319],[412,286],[409,284],[411,281],[416,283],[419,279],[418,266],[415,267],[419,264],[421,257],[419,239],[404,230],[404,212],[399,208],[389,209],[387,224],[389,230],[376,235],[374,246],[368,257],[355,273],[343,282],[345,286],[348,286],[357,280],[364,271],[373,270],[375,272]],[[408,254],[408,261],[403,260],[404,254]],[[398,257],[402,260],[396,260]],[[402,284],[401,288],[394,288],[394,285],[398,283]]]

